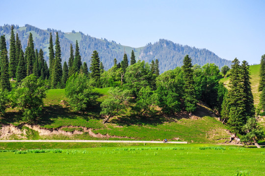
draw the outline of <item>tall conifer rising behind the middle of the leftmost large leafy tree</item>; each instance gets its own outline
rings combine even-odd
[[[35,51],[34,51],[34,44],[32,34],[29,33],[28,41],[27,41],[27,48],[25,51],[25,58],[27,62],[27,76],[32,74],[33,70],[33,60],[35,58]]]

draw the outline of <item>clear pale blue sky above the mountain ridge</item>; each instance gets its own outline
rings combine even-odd
[[[1,0],[0,25],[81,31],[132,47],[159,39],[259,64],[264,0]]]

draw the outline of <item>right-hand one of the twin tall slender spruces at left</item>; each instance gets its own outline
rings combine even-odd
[[[55,40],[55,59],[53,64],[53,74],[52,74],[52,87],[61,88],[61,79],[62,79],[62,59],[61,59],[61,47],[59,42],[58,32],[56,32]]]

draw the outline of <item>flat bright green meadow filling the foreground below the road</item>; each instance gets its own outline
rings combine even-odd
[[[201,144],[2,152],[0,161],[1,176],[265,175],[265,149]]]

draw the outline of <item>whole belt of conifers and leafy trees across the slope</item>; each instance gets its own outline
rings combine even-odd
[[[182,67],[159,74],[159,60],[136,62],[134,51],[131,57],[124,53],[123,60],[105,71],[99,53],[94,50],[90,67],[81,62],[79,44],[76,41],[75,53],[70,45],[68,64],[61,65],[61,47],[58,33],[53,48],[50,33],[49,63],[43,59],[43,51],[34,49],[32,34],[29,34],[25,53],[18,35],[11,30],[9,59],[5,37],[0,37],[0,111],[5,112],[8,104],[23,113],[25,121],[36,120],[43,107],[43,98],[48,88],[65,88],[69,105],[76,112],[85,112],[96,104],[97,95],[93,88],[112,87],[109,96],[102,102],[100,114],[104,123],[111,117],[134,114],[134,118],[152,120],[154,114],[162,111],[174,114],[186,111],[190,115],[196,110],[199,101],[206,102],[215,110],[231,132],[242,134],[243,141],[253,141],[264,137],[257,126],[255,107],[251,92],[249,65],[240,65],[235,59],[230,69],[229,88],[219,83],[220,70],[215,64],[192,65],[186,55]],[[130,61],[129,61],[130,60]],[[229,67],[221,70],[224,75]],[[11,85],[10,81],[11,79]],[[13,83],[12,80],[16,80]],[[265,55],[261,60],[261,103],[260,112],[265,110]],[[8,93],[10,92],[11,93]],[[158,110],[160,109],[160,110]]]

